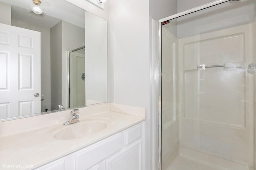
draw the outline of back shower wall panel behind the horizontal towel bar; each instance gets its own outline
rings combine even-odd
[[[180,146],[253,167],[253,24],[179,39]],[[223,65],[197,69],[197,66]]]

